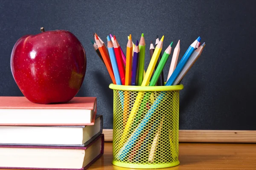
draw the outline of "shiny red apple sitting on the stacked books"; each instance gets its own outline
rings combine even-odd
[[[70,31],[44,31],[26,35],[11,54],[12,75],[31,102],[50,104],[70,101],[81,88],[86,54]]]

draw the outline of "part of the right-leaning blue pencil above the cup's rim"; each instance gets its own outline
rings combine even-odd
[[[173,71],[171,77],[168,79],[168,81],[166,82],[166,85],[173,85],[173,83],[175,82],[175,80],[177,79],[177,77],[179,76],[180,72],[182,71],[183,67],[185,66],[186,62],[188,61],[189,57],[191,56],[191,54],[194,52],[195,47],[198,43],[200,37],[198,37],[198,39],[196,39],[187,49],[186,53],[183,55],[183,57],[181,58],[179,64],[177,65],[177,67],[175,68],[175,70]]]

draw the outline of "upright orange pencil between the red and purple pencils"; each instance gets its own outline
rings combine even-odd
[[[131,34],[126,48],[126,67],[125,67],[125,85],[131,85],[131,66],[132,66],[132,40]]]

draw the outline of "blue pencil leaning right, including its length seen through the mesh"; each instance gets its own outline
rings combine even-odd
[[[172,73],[172,76],[166,82],[166,85],[172,85],[174,83],[175,79],[177,79],[177,77],[179,76],[179,73],[181,72],[182,68],[184,67],[184,65],[188,61],[188,59],[191,56],[192,52],[195,50],[195,46],[197,45],[199,38],[200,37],[198,37],[198,39],[195,40],[189,46],[188,50],[186,51],[186,53],[182,57],[181,61],[179,62],[179,64],[175,68],[174,72]],[[176,71],[176,73],[175,73],[175,71]],[[156,111],[157,106],[160,104],[160,102],[163,99],[163,97],[165,96],[165,94],[166,94],[166,92],[162,91],[159,94],[159,96],[157,96],[157,99],[154,101],[154,103],[152,104],[151,108],[148,110],[147,114],[145,115],[145,117],[141,121],[140,125],[138,125],[138,127],[134,130],[134,133],[131,134],[131,136],[128,139],[128,141],[123,145],[123,147],[121,148],[121,150],[117,154],[117,158],[118,159],[124,160],[125,156],[131,150],[131,147],[134,145],[134,143],[136,142],[136,140],[140,136],[140,133],[143,131],[143,128],[145,128],[145,126],[147,125],[147,123],[150,120],[151,116]],[[159,123],[159,121],[157,120],[155,122],[155,125],[157,125],[158,123]]]

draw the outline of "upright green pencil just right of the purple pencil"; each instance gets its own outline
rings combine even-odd
[[[144,77],[145,46],[146,44],[145,44],[144,34],[142,33],[140,37],[140,43],[139,43],[140,59],[139,59],[138,85],[141,85]]]

